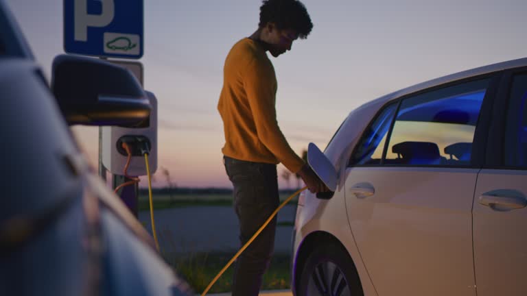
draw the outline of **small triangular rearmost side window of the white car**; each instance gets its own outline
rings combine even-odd
[[[396,107],[397,103],[386,106],[368,126],[355,148],[350,164],[381,164],[386,134],[395,116]]]

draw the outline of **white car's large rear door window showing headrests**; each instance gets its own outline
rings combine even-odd
[[[489,79],[401,101],[384,164],[467,166]]]

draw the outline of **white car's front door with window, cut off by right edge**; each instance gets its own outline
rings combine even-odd
[[[504,75],[473,201],[478,296],[527,295],[527,69]]]

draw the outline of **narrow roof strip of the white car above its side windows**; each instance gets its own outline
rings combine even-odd
[[[506,62],[499,62],[496,64],[490,64],[487,66],[480,66],[478,68],[461,71],[458,73],[446,75],[443,77],[439,77],[436,79],[429,80],[427,82],[422,82],[420,84],[415,84],[414,86],[409,86],[407,88],[403,88],[401,90],[397,90],[393,93],[390,93],[388,95],[384,95],[382,97],[379,97],[377,99],[374,99],[373,101],[369,101],[368,103],[365,103],[363,106],[369,106],[369,105],[376,105],[378,103],[386,103],[388,101],[391,101],[393,99],[397,99],[399,97],[402,97],[404,95],[409,95],[411,93],[417,93],[420,90],[425,90],[427,88],[432,88],[434,86],[440,86],[441,84],[447,84],[449,82],[455,82],[457,80],[461,79],[467,79],[470,77],[476,77],[479,75],[484,75],[487,73],[492,73],[495,71],[502,71],[506,69],[513,69],[513,68],[519,68],[522,66],[527,66],[527,58],[520,58],[517,60],[509,60]]]

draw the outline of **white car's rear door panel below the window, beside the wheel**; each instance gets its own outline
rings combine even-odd
[[[471,208],[478,169],[347,172],[349,223],[379,295],[476,296]],[[357,197],[355,186],[375,193]]]

